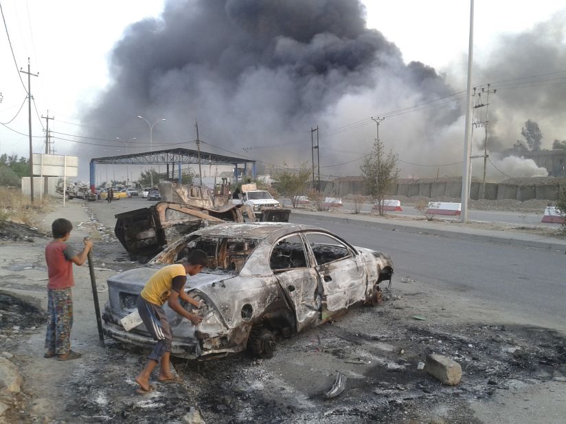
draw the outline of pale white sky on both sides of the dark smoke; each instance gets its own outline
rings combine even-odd
[[[16,64],[5,31],[0,27],[0,92],[3,95],[0,122],[10,121],[25,100],[20,77],[27,78],[27,75],[16,69],[27,68],[27,57],[30,57],[32,73],[39,73],[38,77],[31,77],[34,152],[45,150],[45,119],[40,121],[38,115],[45,116],[47,110],[56,118],[49,121],[51,129],[66,134],[83,134],[90,130],[93,134],[89,122],[82,117],[113,77],[108,64],[113,46],[128,25],[148,16],[158,16],[163,3],[157,0],[1,0]],[[363,3],[367,8],[367,27],[379,30],[395,43],[405,63],[420,61],[434,67],[454,87],[465,88],[469,1],[367,0]],[[490,58],[502,37],[532,30],[537,23],[565,10],[563,1],[476,0],[475,65],[481,66]],[[23,82],[27,85],[26,79]],[[133,116],[137,114],[132,111]],[[373,110],[367,110],[366,115],[373,114]],[[27,103],[7,125],[23,134],[0,126],[0,154],[28,156]],[[373,130],[372,126],[363,128],[368,136]],[[146,126],[140,122],[139,139],[146,137],[146,132]],[[114,137],[132,136],[128,132]],[[75,143],[60,140],[56,140],[55,149],[58,154],[78,152]],[[124,147],[118,143],[115,148],[102,149],[100,156],[124,152]]]

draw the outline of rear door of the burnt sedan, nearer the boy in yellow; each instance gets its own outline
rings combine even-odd
[[[273,244],[269,266],[295,309],[297,331],[319,320],[321,292],[318,274],[298,233],[286,235]]]

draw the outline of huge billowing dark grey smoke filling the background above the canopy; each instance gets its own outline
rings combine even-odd
[[[465,85],[449,73],[456,88],[449,86],[444,75],[420,62],[405,64],[394,43],[365,27],[364,13],[353,0],[170,0],[160,19],[126,30],[111,54],[113,82],[84,120],[98,128],[93,137],[101,137],[103,128],[103,137],[121,134],[148,143],[148,127],[137,115],[150,121],[166,117],[153,133],[157,148],[195,139],[198,119],[204,141],[291,166],[310,162],[310,127],[318,124],[322,174],[358,175],[361,161],[355,160],[369,152],[376,137],[370,115],[449,96]],[[490,82],[566,69],[565,49],[556,45],[557,25],[501,40],[489,66],[476,75]],[[505,54],[498,56],[501,51]],[[560,96],[552,86],[543,93],[525,102],[520,90],[501,87],[490,112],[490,150],[511,147],[529,118],[539,121],[545,134],[564,125],[553,109]],[[381,124],[380,139],[400,154],[403,176],[437,172],[410,163],[462,160],[462,97]],[[532,113],[535,107],[540,116]],[[334,131],[358,121],[365,125]],[[254,146],[262,148],[243,150]],[[205,150],[226,154],[206,145]],[[328,166],[339,163],[346,164]],[[480,169],[474,165],[475,174]],[[440,172],[457,176],[461,165]]]

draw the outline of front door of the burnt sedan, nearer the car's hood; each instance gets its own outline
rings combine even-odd
[[[358,252],[326,233],[304,233],[322,286],[322,314],[329,316],[365,299],[365,266]]]

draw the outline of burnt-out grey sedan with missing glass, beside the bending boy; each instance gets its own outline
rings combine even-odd
[[[208,267],[188,278],[185,290],[205,307],[192,325],[172,311],[172,355],[210,359],[248,349],[269,357],[278,337],[320,325],[359,303],[375,304],[379,283],[391,282],[393,263],[381,252],[350,245],[321,228],[283,222],[218,224],[185,235],[148,264],[108,280],[104,333],[124,344],[154,343],[143,324],[125,331],[120,320],[135,311],[150,275],[182,259],[188,250],[207,252]]]

